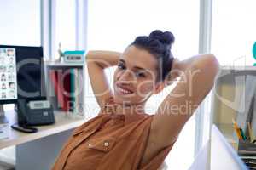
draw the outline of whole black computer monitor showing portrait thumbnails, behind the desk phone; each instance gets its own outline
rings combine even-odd
[[[42,47],[0,45],[0,104],[46,99],[43,56]]]

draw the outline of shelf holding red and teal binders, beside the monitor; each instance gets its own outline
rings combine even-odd
[[[84,113],[84,63],[52,62],[48,63],[46,70],[46,75],[49,80],[47,81],[47,96],[54,109],[60,109],[60,103],[63,106],[63,104],[69,105],[69,102],[72,101],[72,106],[75,108],[74,112]],[[56,72],[57,74],[55,74]],[[73,77],[71,77],[71,75],[73,75]],[[66,82],[64,82],[64,80]],[[69,86],[67,82],[70,83]],[[67,96],[67,92],[70,92],[71,87],[73,87],[73,91],[75,92],[72,95],[72,99],[71,94]],[[59,99],[61,99],[61,102],[59,102]]]

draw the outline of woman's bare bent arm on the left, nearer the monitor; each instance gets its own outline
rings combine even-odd
[[[117,65],[121,53],[113,51],[89,51],[86,55],[90,84],[98,105],[113,96],[104,69]]]

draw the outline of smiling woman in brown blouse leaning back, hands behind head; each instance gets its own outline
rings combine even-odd
[[[124,53],[90,51],[87,66],[98,116],[77,128],[53,169],[159,169],[178,133],[212,88],[218,60],[202,54],[183,61],[171,53],[171,32],[137,37]],[[117,65],[112,92],[104,69]],[[172,71],[171,71],[172,70]],[[144,105],[174,80],[154,115]]]

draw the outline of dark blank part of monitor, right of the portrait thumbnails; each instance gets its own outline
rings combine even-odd
[[[15,49],[18,99],[46,99],[43,48],[3,45],[0,48]]]

